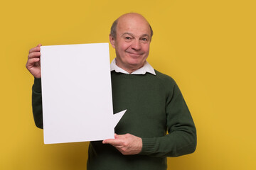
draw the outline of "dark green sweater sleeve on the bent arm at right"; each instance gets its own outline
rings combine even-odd
[[[166,98],[166,126],[163,137],[142,138],[140,154],[156,157],[178,157],[196,149],[196,127],[176,83]]]

